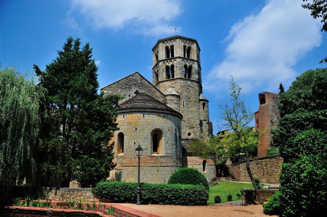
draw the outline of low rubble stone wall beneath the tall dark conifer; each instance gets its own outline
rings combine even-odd
[[[68,187],[42,187],[40,192],[42,198],[48,198],[57,201],[66,200],[83,200],[83,201],[104,201],[103,198],[98,198],[93,195],[91,188],[68,188]]]

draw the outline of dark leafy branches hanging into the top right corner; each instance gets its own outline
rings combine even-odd
[[[307,0],[303,0],[303,2],[306,2]],[[325,31],[327,32],[327,2],[325,0],[312,0],[312,4],[307,3],[307,4],[302,4],[302,8],[308,9],[311,11],[311,16],[314,19],[320,19],[321,18],[321,23],[322,28],[321,32]],[[327,62],[327,57],[325,57],[323,60],[321,60],[319,63]]]

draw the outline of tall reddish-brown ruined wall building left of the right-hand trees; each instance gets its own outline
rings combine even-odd
[[[259,94],[259,111],[255,112],[256,128],[266,132],[259,137],[261,144],[258,146],[258,157],[267,155],[267,149],[272,144],[271,129],[276,129],[279,120],[277,106],[278,94],[262,92]]]

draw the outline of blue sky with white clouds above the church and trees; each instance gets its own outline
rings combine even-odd
[[[89,42],[100,88],[135,71],[152,82],[152,47],[177,34],[198,41],[203,94],[214,134],[218,104],[229,99],[229,75],[242,87],[246,106],[258,94],[288,89],[308,69],[327,67],[326,33],[298,0],[0,0],[0,62],[41,70],[72,36]],[[254,125],[254,123],[253,123]]]

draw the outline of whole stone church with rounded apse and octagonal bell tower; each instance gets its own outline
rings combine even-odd
[[[211,182],[216,178],[213,159],[195,157],[188,148],[196,133],[212,135],[198,42],[173,36],[158,40],[152,52],[152,83],[134,72],[101,88],[105,94],[124,96],[119,130],[112,138],[117,166],[110,179],[137,181],[135,148],[140,145],[142,182],[167,183],[184,166],[197,168]]]

